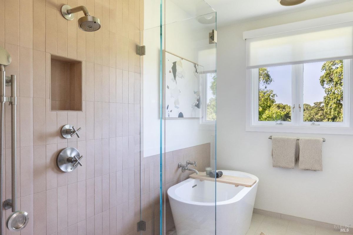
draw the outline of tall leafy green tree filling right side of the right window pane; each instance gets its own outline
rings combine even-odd
[[[343,121],[343,60],[327,61],[321,67],[320,85],[325,90],[325,122]]]

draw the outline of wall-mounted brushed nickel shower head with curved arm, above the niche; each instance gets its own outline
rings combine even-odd
[[[71,8],[69,5],[61,7],[61,14],[67,20],[73,20],[74,13],[83,11],[84,17],[78,19],[78,27],[86,32],[93,32],[101,28],[101,22],[97,17],[91,16],[85,6]]]

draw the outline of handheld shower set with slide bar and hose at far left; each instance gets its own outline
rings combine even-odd
[[[4,60],[7,58],[7,61]],[[8,52],[0,47],[0,199],[2,202],[2,185],[3,185],[3,162],[4,162],[4,116],[5,116],[5,102],[11,105],[11,199],[5,200],[3,206],[5,209],[12,208],[12,214],[7,218],[6,224],[10,231],[20,231],[26,227],[29,221],[29,215],[25,211],[17,210],[17,169],[16,169],[16,76],[11,75],[11,79],[5,76],[5,65],[11,63],[11,56]],[[11,84],[11,97],[5,96],[6,84]],[[0,235],[4,235],[3,215],[2,210],[0,214]]]

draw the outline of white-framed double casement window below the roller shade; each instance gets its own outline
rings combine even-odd
[[[250,69],[247,130],[348,132],[351,67],[334,60]]]

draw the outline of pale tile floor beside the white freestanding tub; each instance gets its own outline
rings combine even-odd
[[[246,235],[345,235],[339,231],[330,231],[313,225],[301,224],[285,219],[274,218],[259,214],[252,214],[251,225]],[[167,235],[177,235],[169,231]]]

